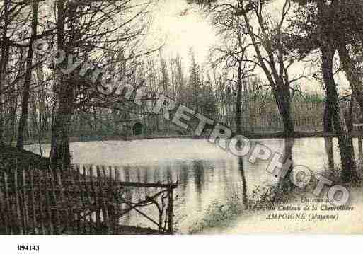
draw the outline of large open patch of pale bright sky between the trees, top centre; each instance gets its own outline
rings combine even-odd
[[[154,13],[152,40],[166,43],[163,52],[167,57],[180,54],[188,62],[192,47],[198,62],[207,59],[209,47],[217,37],[202,13],[185,0],[159,0]]]

